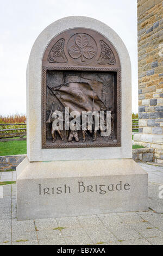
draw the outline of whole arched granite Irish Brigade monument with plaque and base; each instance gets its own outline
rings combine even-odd
[[[148,210],[148,175],[132,160],[126,46],[95,19],[55,21],[36,39],[27,66],[17,218],[139,210]]]

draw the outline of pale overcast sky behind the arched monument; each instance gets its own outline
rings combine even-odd
[[[0,114],[26,113],[26,66],[35,39],[66,16],[88,16],[114,29],[132,65],[133,112],[137,112],[136,0],[0,0]]]

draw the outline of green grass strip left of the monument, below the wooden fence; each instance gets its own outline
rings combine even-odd
[[[0,156],[27,154],[27,141],[0,142]]]

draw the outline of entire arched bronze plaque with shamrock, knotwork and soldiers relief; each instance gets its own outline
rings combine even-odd
[[[96,113],[91,128],[86,119],[83,129],[84,112]],[[101,112],[103,118],[99,115],[96,119]],[[79,118],[74,129],[70,124],[77,114],[72,113],[78,113]],[[65,114],[69,116],[68,121]],[[108,116],[110,132],[102,136],[101,124],[106,127]],[[96,129],[96,120],[99,129]],[[85,28],[68,29],[55,36],[43,54],[42,148],[120,146],[121,66],[118,54],[102,34]]]

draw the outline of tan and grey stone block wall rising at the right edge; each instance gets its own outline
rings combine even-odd
[[[163,154],[163,1],[137,1],[139,135],[134,141]]]

